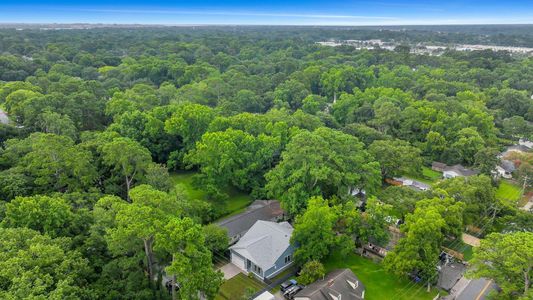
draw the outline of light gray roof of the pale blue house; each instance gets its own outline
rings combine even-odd
[[[268,270],[290,246],[292,231],[287,222],[257,221],[230,249]]]

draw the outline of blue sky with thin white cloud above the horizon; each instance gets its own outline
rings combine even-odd
[[[0,23],[533,24],[533,0],[0,0]]]

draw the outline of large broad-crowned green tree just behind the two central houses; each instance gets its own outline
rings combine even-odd
[[[352,189],[371,193],[380,185],[379,163],[357,138],[336,130],[302,131],[281,157],[265,175],[266,189],[290,215],[301,212],[312,196],[347,199]]]

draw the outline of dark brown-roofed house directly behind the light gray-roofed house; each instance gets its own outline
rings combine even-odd
[[[276,200],[256,200],[246,208],[246,211],[235,216],[231,216],[217,225],[228,230],[230,245],[236,243],[255,222],[279,221],[283,219],[283,210]]]

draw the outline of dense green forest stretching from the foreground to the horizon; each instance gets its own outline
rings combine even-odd
[[[167,299],[172,276],[181,299],[212,299],[228,242],[210,224],[232,213],[233,190],[281,201],[300,265],[353,251],[354,237],[387,241],[387,216],[405,237],[383,264],[428,284],[440,247],[467,227],[493,241],[474,263],[494,247],[527,253],[532,215],[496,197],[492,171],[505,146],[533,139],[533,58],[316,44],[533,45],[528,28],[478,31],[0,30],[0,298]],[[433,161],[480,174],[426,192],[386,183]],[[532,164],[513,174],[524,189]],[[176,188],[185,171],[205,197]],[[502,297],[531,299],[532,275],[512,259],[478,271]]]

